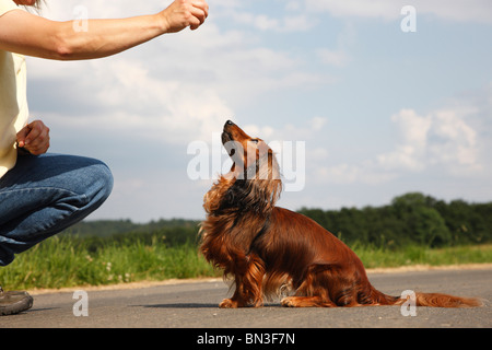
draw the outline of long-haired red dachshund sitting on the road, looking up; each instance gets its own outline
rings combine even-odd
[[[220,307],[261,306],[289,287],[283,306],[401,305],[371,285],[359,257],[313,220],[276,207],[282,187],[271,149],[227,121],[222,143],[233,160],[204,196],[200,250],[234,277],[235,292]],[[477,299],[417,293],[419,306],[478,306]]]

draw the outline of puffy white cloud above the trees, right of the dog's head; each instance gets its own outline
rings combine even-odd
[[[397,139],[394,150],[360,163],[319,166],[314,178],[320,183],[377,185],[409,174],[487,176],[491,162],[483,148],[490,144],[490,130],[479,139],[472,122],[481,113],[479,107],[462,105],[424,116],[414,109],[401,109],[390,118]]]

